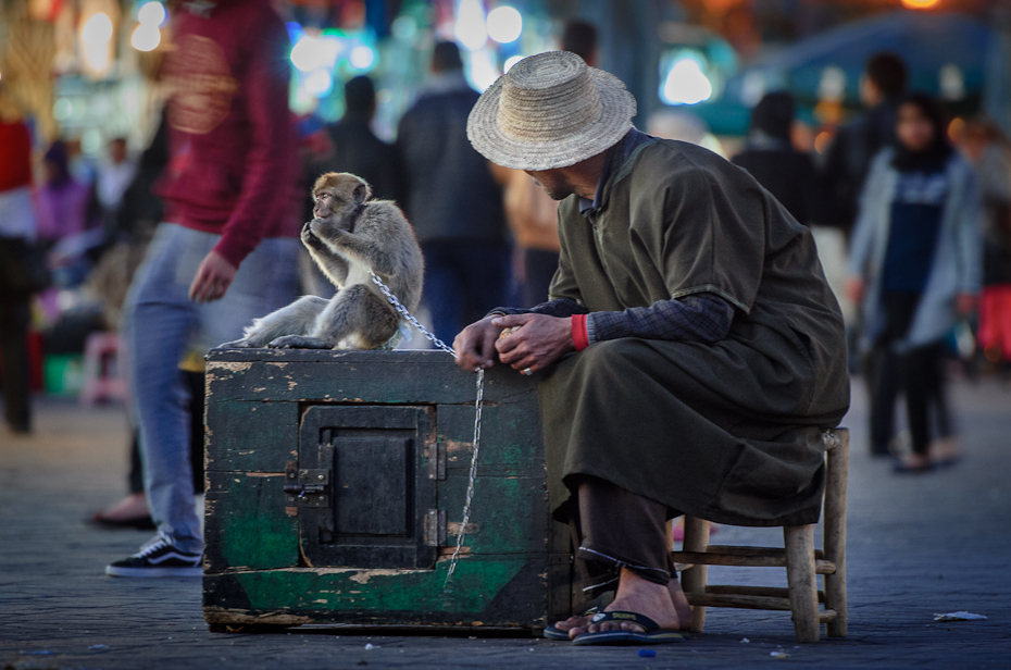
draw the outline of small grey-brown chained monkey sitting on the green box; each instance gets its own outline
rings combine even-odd
[[[302,227],[302,244],[337,287],[329,300],[304,296],[253,321],[242,339],[221,348],[375,349],[396,333],[400,317],[369,271],[410,311],[421,300],[424,260],[414,231],[387,200],[348,173],[330,172],[312,189],[315,219]]]

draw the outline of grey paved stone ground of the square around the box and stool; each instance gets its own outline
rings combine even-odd
[[[866,456],[865,401],[859,385],[854,393],[846,421],[853,429],[849,637],[797,646],[786,612],[711,609],[704,634],[656,658],[533,638],[210,633],[199,580],[102,572],[148,538],[83,521],[123,493],[122,410],[43,401],[35,436],[0,433],[0,668],[1011,668],[1011,388],[956,385],[968,458],[920,476],[894,475]],[[782,541],[775,530],[726,526],[716,539]],[[778,570],[710,575],[785,584]],[[933,620],[956,610],[988,619]],[[781,650],[788,658],[771,656]]]

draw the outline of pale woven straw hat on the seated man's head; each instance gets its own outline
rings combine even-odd
[[[635,98],[617,77],[549,51],[523,59],[482,95],[466,135],[492,163],[553,170],[614,146],[634,115]]]

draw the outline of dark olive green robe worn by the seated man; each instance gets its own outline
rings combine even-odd
[[[552,509],[594,475],[721,523],[817,521],[821,435],[846,413],[849,377],[808,228],[747,172],[685,142],[638,146],[599,195],[587,215],[575,196],[560,207],[552,299],[620,311],[710,293],[735,318],[712,345],[614,339],[549,369]]]

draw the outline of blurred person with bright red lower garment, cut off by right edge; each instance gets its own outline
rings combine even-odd
[[[965,124],[963,148],[979,177],[986,228],[979,347],[986,358],[1011,368],[1011,145],[993,121]]]

